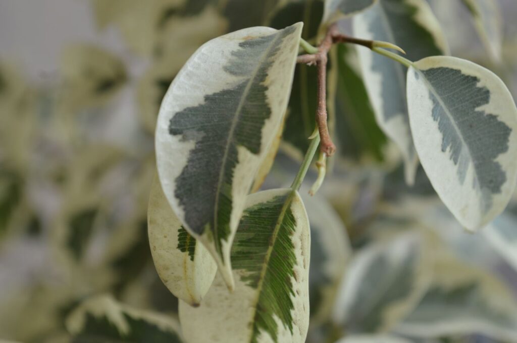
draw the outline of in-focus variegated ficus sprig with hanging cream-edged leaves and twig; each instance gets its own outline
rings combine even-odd
[[[341,25],[349,16],[354,36]],[[470,231],[496,218],[513,194],[512,96],[493,72],[447,56],[425,1],[327,0],[311,42],[302,39],[304,29],[301,22],[250,27],[206,42],[161,104],[149,242],[162,281],[181,300],[186,342],[305,341],[311,235],[299,190],[314,164],[314,194],[336,153],[327,123],[327,73],[339,63],[330,52],[341,45],[359,46],[375,119],[403,156],[407,184],[421,163],[440,199]],[[291,187],[257,191],[282,130],[292,132],[285,115],[297,64],[315,74],[306,78],[315,84],[302,85],[315,89],[307,94],[315,119],[305,158]],[[406,244],[408,256],[419,258],[419,244]]]

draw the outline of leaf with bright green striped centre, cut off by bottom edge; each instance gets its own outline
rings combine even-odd
[[[191,343],[303,343],[309,326],[310,232],[298,192],[272,189],[246,200],[232,247],[235,289],[218,275],[194,308],[180,302]]]

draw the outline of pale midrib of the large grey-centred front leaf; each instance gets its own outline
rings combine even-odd
[[[264,53],[262,54],[262,57],[260,58],[261,62],[260,63],[257,63],[257,67],[253,70],[253,73],[251,74],[251,77],[248,81],[248,84],[246,85],[246,88],[244,89],[244,91],[242,92],[242,96],[241,96],[241,99],[239,101],[239,104],[237,105],[237,109],[235,110],[235,116],[232,120],[232,126],[230,127],[230,132],[229,132],[229,135],[228,135],[228,139],[226,140],[226,145],[224,147],[224,154],[223,154],[223,158],[222,158],[222,164],[221,164],[221,170],[219,171],[219,178],[218,178],[218,182],[217,182],[217,190],[216,190],[216,201],[215,201],[215,206],[214,206],[214,240],[217,242],[215,244],[216,246],[216,250],[218,252],[218,254],[220,256],[222,256],[222,252],[221,252],[221,245],[219,244],[219,233],[218,233],[218,226],[217,226],[217,219],[218,219],[218,209],[219,209],[219,194],[221,192],[221,185],[222,185],[222,179],[224,178],[224,172],[226,170],[226,160],[228,158],[228,152],[229,152],[229,149],[230,149],[230,144],[233,140],[233,134],[235,132],[235,128],[237,126],[237,122],[238,122],[238,119],[241,115],[241,110],[242,110],[242,107],[244,106],[245,104],[245,100],[247,99],[248,95],[249,95],[249,92],[251,90],[251,87],[254,83],[254,80],[258,74],[258,71],[261,69],[263,63],[264,63],[264,60],[265,60],[265,57],[268,56],[269,52],[271,51],[272,47],[275,46],[276,42],[280,39],[280,35],[277,34],[277,36],[275,37],[275,39],[273,39],[268,48],[264,51]],[[230,221],[231,221],[231,214],[230,214]],[[231,223],[230,223],[231,224]],[[224,260],[223,258],[221,258],[222,260],[222,263],[224,263]]]

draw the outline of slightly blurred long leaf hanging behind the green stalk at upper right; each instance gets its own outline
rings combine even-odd
[[[412,61],[449,52],[442,29],[425,0],[379,0],[356,15],[353,26],[355,36],[396,44]],[[409,129],[406,68],[364,48],[358,53],[377,123],[402,152],[406,183],[412,185],[418,156]]]

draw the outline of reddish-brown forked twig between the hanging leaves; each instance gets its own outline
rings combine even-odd
[[[297,62],[308,64],[309,66],[316,65],[318,68],[318,92],[317,92],[317,109],[316,109],[316,123],[320,132],[321,145],[320,150],[332,156],[336,152],[336,145],[332,142],[332,138],[328,132],[327,126],[327,60],[328,52],[334,43],[353,43],[363,45],[369,48],[373,47],[373,41],[363,40],[353,37],[348,37],[339,32],[336,25],[328,28],[325,38],[318,46],[316,54],[306,54],[298,56]]]

